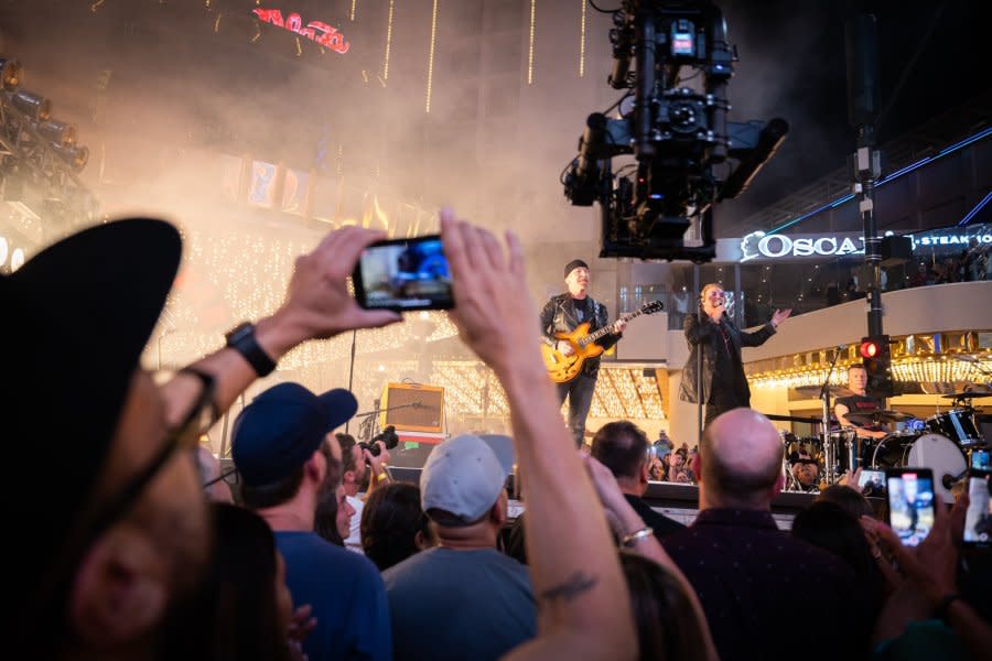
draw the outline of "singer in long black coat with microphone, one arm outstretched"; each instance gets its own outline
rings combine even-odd
[[[780,323],[789,318],[792,308],[776,310],[772,319],[748,333],[734,326],[726,316],[726,295],[715,283],[705,285],[700,294],[700,311],[686,317],[686,339],[689,360],[682,370],[679,399],[699,403],[697,379],[701,381],[702,403],[707,405],[705,424],[714,418],[741,407],[751,407],[751,389],[744,376],[741,347],[757,347],[775,335]],[[699,372],[699,351],[702,350],[702,371]]]

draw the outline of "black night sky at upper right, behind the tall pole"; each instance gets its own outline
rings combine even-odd
[[[988,56],[980,50],[988,39],[988,2],[862,4],[877,18],[880,109],[891,105],[877,128],[880,144],[990,89],[992,78],[982,71]],[[854,150],[855,133],[848,122],[843,25],[854,3],[729,0],[721,6],[731,41],[740,46],[741,63],[729,95],[735,111],[755,100],[748,91],[761,85],[761,106],[774,108],[791,129],[752,188],[726,203],[726,208],[733,205],[746,214],[841,167]],[[766,30],[769,24],[775,28]],[[758,33],[765,39],[757,39]],[[767,39],[769,34],[775,39]],[[755,62],[768,62],[773,68],[755,67]],[[770,83],[765,80],[769,73]],[[769,94],[774,99],[765,96]],[[985,113],[992,118],[992,108]],[[743,110],[735,119],[742,116],[751,118]]]

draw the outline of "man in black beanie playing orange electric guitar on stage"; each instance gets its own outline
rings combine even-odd
[[[589,264],[581,259],[573,259],[565,264],[565,284],[569,291],[551,296],[541,310],[541,332],[543,340],[570,356],[574,353],[572,345],[554,338],[556,333],[574,330],[579,324],[590,322],[589,332],[594,333],[607,326],[606,306],[594,301],[589,295]],[[608,349],[619,339],[627,322],[617,319],[613,324],[610,335],[604,336],[599,344]],[[592,404],[593,391],[596,389],[596,378],[600,372],[600,357],[587,358],[582,365],[582,371],[567,383],[558,384],[558,403],[569,398],[569,429],[575,438],[575,445],[582,447],[585,435],[585,419],[589,416],[589,408]]]

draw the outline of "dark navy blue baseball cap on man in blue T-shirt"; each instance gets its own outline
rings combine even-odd
[[[299,383],[280,383],[238,414],[231,457],[245,484],[270,485],[289,477],[321,446],[324,436],[352,419],[355,395],[342,388],[314,394]]]

